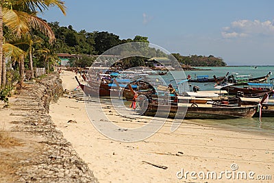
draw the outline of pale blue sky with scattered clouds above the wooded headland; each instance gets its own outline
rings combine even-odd
[[[228,65],[274,65],[273,0],[64,0],[66,16],[40,15],[77,31],[107,31],[183,56],[221,57]]]

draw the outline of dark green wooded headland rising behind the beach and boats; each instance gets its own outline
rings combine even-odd
[[[55,45],[58,45],[55,49],[57,53],[71,53],[83,56],[97,56],[107,51],[108,49],[121,45],[127,42],[149,42],[145,36],[135,36],[127,39],[120,39],[118,35],[109,32],[86,32],[81,30],[75,31],[71,25],[68,27],[60,27],[58,22],[49,23],[51,29],[55,33]],[[161,53],[156,53],[157,56],[162,56]],[[179,61],[185,69],[192,68],[193,66],[226,66],[226,63],[222,58],[216,58],[210,56],[181,56],[179,53],[172,53],[172,55]],[[83,66],[83,62],[91,64],[92,59],[88,57],[82,57],[82,62],[79,60],[75,63],[77,66]],[[132,66],[145,65],[145,60],[133,60]]]

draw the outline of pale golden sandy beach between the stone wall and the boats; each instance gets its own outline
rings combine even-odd
[[[273,182],[273,136],[198,125],[190,120],[182,121],[171,132],[169,119],[143,141],[114,141],[90,123],[83,92],[81,88],[74,90],[77,87],[74,76],[69,71],[60,74],[63,88],[69,94],[52,102],[49,114],[99,182]],[[95,102],[90,105],[95,109],[94,118],[98,119],[96,109],[101,106]],[[111,105],[101,105],[105,105],[105,115],[121,127],[145,125],[150,120],[150,117],[123,117]],[[240,171],[247,173],[247,180],[234,178]],[[213,172],[222,178],[203,178]],[[272,180],[259,180],[269,179],[266,175],[271,175]]]

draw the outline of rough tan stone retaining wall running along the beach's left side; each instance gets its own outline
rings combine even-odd
[[[59,75],[51,74],[24,86],[11,103],[11,115],[20,119],[12,122],[12,131],[25,133],[31,142],[25,146],[32,149],[12,166],[16,182],[98,182],[48,114],[49,103],[62,92]]]

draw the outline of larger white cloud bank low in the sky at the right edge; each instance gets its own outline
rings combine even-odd
[[[223,27],[223,38],[243,38],[255,36],[274,36],[272,21],[239,20],[231,23],[230,27]]]

